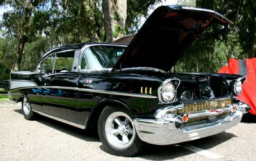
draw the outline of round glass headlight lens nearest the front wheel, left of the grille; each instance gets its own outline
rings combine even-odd
[[[168,82],[164,84],[163,88],[161,89],[161,96],[165,102],[170,102],[175,97],[175,87],[172,82]]]

